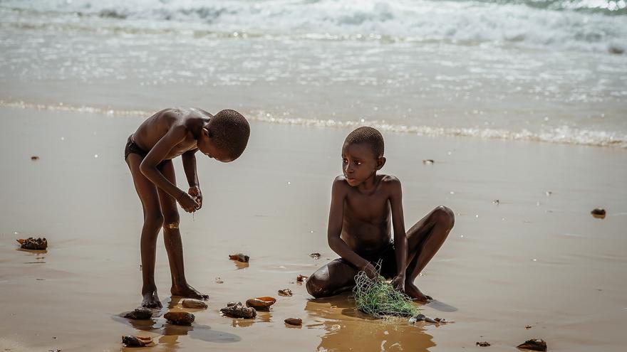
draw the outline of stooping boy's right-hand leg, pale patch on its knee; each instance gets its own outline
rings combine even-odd
[[[160,166],[160,171],[168,181],[176,184],[176,176],[172,160],[165,161]],[[172,275],[172,296],[189,297],[195,299],[207,299],[209,296],[200,294],[194,287],[187,284],[185,279],[185,267],[183,264],[183,243],[179,230],[179,211],[177,201],[161,189],[158,190],[161,213],[163,213],[163,242],[167,252],[167,260],[170,262]]]

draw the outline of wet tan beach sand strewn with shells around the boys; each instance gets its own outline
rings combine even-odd
[[[456,214],[417,280],[437,299],[423,312],[455,323],[408,326],[369,319],[348,294],[311,299],[295,283],[336,257],[326,218],[348,130],[262,123],[236,162],[199,156],[204,208],[181,213],[187,278],[209,309],[186,309],[196,314],[189,328],[162,317],[134,326],[119,314],[140,303],[142,215],[123,147],[144,118],[0,108],[1,351],[120,351],[125,334],[157,342],[135,351],[462,351],[476,341],[517,351],[528,338],[549,351],[623,351],[627,151],[385,134],[383,172],[403,182],[406,226],[439,205]],[[596,207],[608,216],[593,218]],[[29,236],[46,237],[48,251],[18,250],[15,239]],[[158,248],[165,313],[177,299],[161,237]],[[294,296],[279,297],[282,288]],[[254,321],[219,315],[266,295],[277,302]]]

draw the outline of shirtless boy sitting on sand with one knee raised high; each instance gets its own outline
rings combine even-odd
[[[363,270],[392,279],[395,289],[427,301],[414,280],[440,249],[455,223],[453,212],[439,206],[405,233],[400,181],[377,174],[385,164],[383,137],[372,127],[348,134],[342,146],[343,175],[333,181],[328,215],[328,245],[341,258],[318,269],[307,280],[312,296],[328,297],[353,289]],[[394,228],[394,237],[390,229]]]

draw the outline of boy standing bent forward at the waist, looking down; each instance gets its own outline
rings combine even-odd
[[[172,296],[207,299],[187,284],[177,202],[188,213],[202,207],[196,156],[227,163],[237,159],[248,143],[250,127],[234,110],[215,116],[199,109],[165,109],[143,122],[128,137],[124,159],[133,174],[135,190],[142,202],[144,225],[141,238],[142,306],[160,307],[155,284],[157,234],[163,228],[167,259],[170,262]],[[189,191],[176,186],[172,159],[182,156]]]

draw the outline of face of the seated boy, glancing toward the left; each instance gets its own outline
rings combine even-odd
[[[375,156],[372,147],[366,143],[342,146],[342,171],[350,186],[359,186],[376,174],[385,164],[385,158]]]

